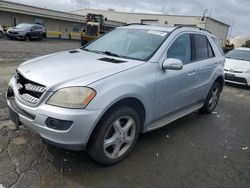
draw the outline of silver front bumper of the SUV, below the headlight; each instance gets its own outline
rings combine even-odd
[[[7,97],[10,111],[14,111],[18,120],[12,119],[16,124],[22,124],[40,134],[46,143],[62,149],[79,151],[86,148],[90,135],[98,122],[101,110],[66,109],[40,104],[30,107],[21,103],[16,96],[17,90],[13,83],[9,84],[14,92],[14,97]],[[47,118],[72,121],[67,130],[55,130],[46,125]]]

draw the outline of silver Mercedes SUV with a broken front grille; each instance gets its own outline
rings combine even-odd
[[[199,28],[129,25],[21,64],[9,82],[10,117],[46,143],[110,165],[138,138],[193,111],[211,113],[224,55]]]

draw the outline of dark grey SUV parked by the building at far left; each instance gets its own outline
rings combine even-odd
[[[9,39],[32,40],[47,37],[46,29],[38,24],[21,23],[13,28],[7,30],[7,37]]]

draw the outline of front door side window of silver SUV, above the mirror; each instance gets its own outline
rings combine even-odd
[[[167,51],[167,58],[176,58],[188,64],[191,62],[190,34],[179,36]]]

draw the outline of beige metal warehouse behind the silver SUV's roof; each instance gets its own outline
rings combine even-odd
[[[73,11],[74,14],[87,15],[88,13],[102,14],[110,20],[116,20],[126,23],[145,23],[160,26],[197,26],[209,30],[217,36],[221,44],[224,45],[227,39],[229,25],[210,17],[202,16],[179,16],[165,14],[142,14],[125,13],[114,10],[81,9]]]

